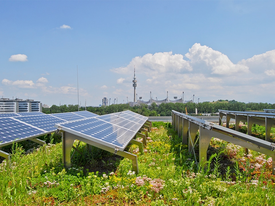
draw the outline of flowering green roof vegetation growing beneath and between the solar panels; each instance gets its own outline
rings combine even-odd
[[[6,161],[0,166],[0,205],[274,205],[270,157],[244,155],[243,148],[212,138],[203,170],[171,124],[153,126],[143,153],[127,148],[138,157],[139,174],[129,159],[95,147],[88,152],[84,143],[70,169],[53,136],[47,152],[39,147],[25,155],[13,144],[12,168]]]

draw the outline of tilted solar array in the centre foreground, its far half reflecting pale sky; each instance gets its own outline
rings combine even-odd
[[[65,132],[70,132],[88,140],[122,150],[137,134],[148,117],[131,111],[117,112],[97,116],[92,119],[82,119],[74,122],[56,124]]]

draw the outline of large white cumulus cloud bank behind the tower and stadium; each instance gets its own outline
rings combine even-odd
[[[113,94],[129,96],[133,92],[129,80],[133,78],[134,67],[136,90],[144,98],[152,91],[154,96],[161,94],[164,99],[168,90],[169,96],[180,96],[184,92],[190,96],[195,94],[202,101],[231,97],[244,101],[245,96],[261,95],[266,85],[275,84],[272,78],[275,76],[275,50],[234,64],[226,54],[195,43],[186,54],[172,51],[145,54],[134,57],[127,66],[113,68],[112,72],[121,75]]]

